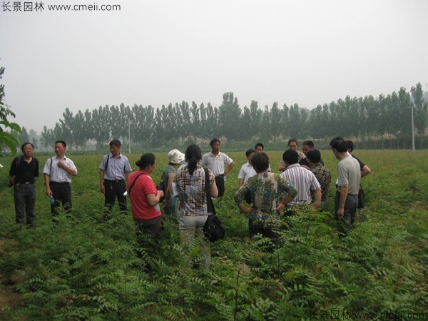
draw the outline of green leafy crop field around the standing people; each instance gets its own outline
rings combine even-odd
[[[1,158],[0,320],[428,320],[428,151],[355,151],[372,173],[362,178],[367,207],[345,238],[332,215],[337,160],[322,151],[330,211],[283,218],[273,251],[248,238],[233,202],[245,152],[225,153],[236,165],[215,202],[226,238],[210,244],[209,270],[189,264],[201,249],[183,251],[175,218],[151,249],[137,248],[130,210],[116,205],[103,222],[101,154],[68,154],[78,168],[71,215],[52,225],[41,176],[37,226],[19,228],[6,186],[13,158]],[[267,154],[277,172],[282,152]],[[155,155],[158,183],[168,158]],[[35,156],[41,173],[48,156]],[[128,156],[134,170],[140,156]]]

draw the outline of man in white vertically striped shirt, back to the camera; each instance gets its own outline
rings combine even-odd
[[[296,205],[309,205],[312,203],[311,190],[314,193],[314,202],[312,208],[317,209],[321,203],[321,185],[318,183],[315,175],[306,168],[303,168],[298,163],[299,156],[297,151],[289,149],[282,154],[282,160],[285,163],[285,170],[281,174],[290,183],[295,185],[299,193],[288,205],[288,215],[292,215],[294,210],[293,206]]]

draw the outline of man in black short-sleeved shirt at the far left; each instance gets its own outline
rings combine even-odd
[[[14,158],[9,170],[10,184],[14,186],[15,222],[24,225],[26,216],[26,224],[35,228],[36,186],[34,180],[39,177],[39,161],[33,157],[34,145],[32,143],[22,144],[21,151],[24,155]]]

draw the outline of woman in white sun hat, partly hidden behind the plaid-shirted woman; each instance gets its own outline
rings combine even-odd
[[[163,200],[163,205],[165,206],[165,213],[173,214],[178,217],[178,198],[174,198],[173,193],[173,181],[175,178],[175,170],[178,168],[180,163],[184,161],[184,154],[178,151],[178,149],[173,149],[168,153],[169,163],[163,168],[162,171],[162,181],[163,186],[165,186],[165,200]]]

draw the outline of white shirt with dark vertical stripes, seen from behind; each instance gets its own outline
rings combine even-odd
[[[315,175],[299,164],[288,166],[287,169],[281,173],[281,176],[287,178],[287,180],[294,184],[297,190],[299,190],[299,193],[297,193],[297,196],[289,205],[310,204],[312,201],[310,191],[321,188]]]

